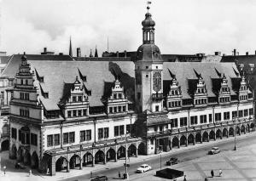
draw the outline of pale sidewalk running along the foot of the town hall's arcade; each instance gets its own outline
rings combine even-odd
[[[252,132],[252,133],[247,133],[247,134],[241,134],[241,136],[237,137],[237,140],[239,139],[243,139],[246,138],[248,136],[256,136],[256,132]],[[170,155],[172,153],[179,153],[179,152],[183,152],[184,150],[193,150],[193,149],[198,149],[198,148],[204,148],[207,147],[209,145],[214,145],[217,144],[219,142],[228,142],[230,140],[234,139],[234,137],[230,137],[228,139],[224,138],[224,139],[217,139],[216,141],[210,141],[210,142],[204,142],[203,144],[195,144],[195,145],[189,145],[188,147],[181,147],[180,149],[172,149],[169,152],[163,152],[162,155]],[[15,161],[14,160],[9,160],[9,156],[8,156],[8,151],[2,152],[1,153],[1,157],[2,157],[2,162],[1,162],[1,169],[2,172],[0,174],[0,180],[2,180],[2,178],[4,178],[4,181],[21,181],[21,180],[60,180],[63,178],[73,178],[79,175],[83,175],[83,174],[90,174],[90,172],[94,173],[97,171],[101,171],[104,169],[109,169],[109,168],[113,168],[113,167],[120,167],[123,166],[125,163],[125,160],[119,160],[118,162],[108,162],[106,165],[96,165],[95,167],[83,167],[83,170],[79,170],[79,169],[72,169],[70,170],[70,173],[66,173],[66,172],[61,172],[61,173],[56,173],[56,175],[54,177],[51,176],[47,176],[45,174],[41,174],[38,173],[37,170],[32,170],[32,176],[28,177],[28,173],[29,173],[29,167],[26,167],[25,170],[17,170],[15,169]],[[138,157],[130,157],[130,163],[133,162],[137,162],[137,161],[147,161],[148,159],[154,158],[154,157],[158,157],[159,155],[150,155],[150,156],[138,156]],[[3,166],[6,166],[6,175],[3,176]],[[17,174],[18,173],[18,174]],[[151,175],[152,177],[152,175]]]

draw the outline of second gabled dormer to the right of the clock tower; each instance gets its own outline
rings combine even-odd
[[[203,80],[201,74],[196,74],[198,77],[196,88],[194,92],[194,105],[195,106],[201,106],[201,105],[207,105],[207,86],[205,84],[205,81]]]

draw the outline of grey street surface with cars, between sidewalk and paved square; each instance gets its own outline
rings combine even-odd
[[[242,147],[251,145],[251,144],[256,144],[256,139],[255,137],[247,137],[247,138],[241,138],[238,141],[238,150],[240,150]],[[189,145],[191,146],[191,145]],[[160,169],[160,160],[161,160],[161,167],[166,167],[166,161],[172,156],[172,157],[177,157],[178,160],[180,161],[179,164],[182,164],[184,161],[191,161],[191,160],[197,160],[201,158],[202,156],[208,156],[207,152],[208,150],[211,150],[212,146],[218,146],[221,152],[228,152],[230,150],[234,149],[234,139],[227,139],[227,142],[212,142],[211,145],[206,145],[203,148],[195,149],[195,150],[183,150],[183,152],[180,153],[174,153],[172,154],[172,151],[169,154],[165,154],[157,157],[153,157],[150,159],[145,159],[144,161],[137,161],[135,163],[131,163],[129,167],[129,175],[131,178],[136,178],[135,175],[138,175],[138,177],[142,177],[143,174],[148,174],[148,173],[136,173],[137,167],[142,165],[143,163],[147,163],[150,165],[154,173],[156,170]],[[235,151],[233,151],[235,152]],[[161,157],[161,159],[160,159]],[[210,157],[211,158],[211,157]],[[177,164],[177,167],[178,165]],[[84,167],[86,169],[86,167]],[[106,175],[110,180],[113,179],[118,179],[118,173],[125,173],[125,167],[112,167],[108,168],[108,164],[106,165],[106,169],[102,171],[97,171],[93,172],[93,177],[97,175]],[[135,177],[134,177],[135,176]],[[85,180],[90,180],[90,174],[85,174],[83,176],[78,176],[74,178],[67,178],[67,179],[62,179],[63,181],[67,180],[79,180],[79,181],[85,181]]]

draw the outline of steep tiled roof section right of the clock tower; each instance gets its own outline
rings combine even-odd
[[[195,71],[200,73],[203,80],[205,81],[207,86],[208,97],[216,96],[212,90],[212,79],[219,79],[220,76],[218,75],[218,73],[221,73],[222,75],[225,74],[225,76],[228,79],[228,84],[230,88],[232,88],[231,78],[239,77],[236,76],[236,72],[234,71],[236,70],[236,65],[234,63],[219,64],[200,62],[164,62],[164,84],[165,82],[171,83],[170,81],[172,81],[172,76],[170,76],[170,72],[168,71],[168,69],[172,72],[172,74],[176,75],[177,82],[181,86],[183,99],[191,98],[189,95],[189,81],[198,79],[198,77],[195,74]],[[218,72],[216,70],[218,70]],[[165,87],[168,88],[168,86]],[[231,90],[231,94],[235,94],[235,92]]]

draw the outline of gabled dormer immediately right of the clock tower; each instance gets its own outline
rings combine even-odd
[[[172,110],[175,108],[180,108],[182,106],[182,91],[180,86],[178,86],[177,78],[169,70],[172,76],[172,83],[170,85],[170,91],[166,96],[166,107],[167,110]]]

